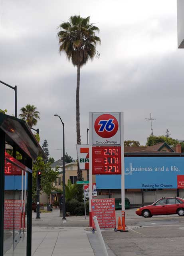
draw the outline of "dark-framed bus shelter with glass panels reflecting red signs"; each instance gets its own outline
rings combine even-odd
[[[0,113],[0,256],[31,256],[32,163],[46,158],[28,124]]]

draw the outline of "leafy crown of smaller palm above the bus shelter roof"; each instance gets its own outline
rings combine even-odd
[[[32,127],[38,123],[40,119],[40,112],[37,111],[36,106],[27,104],[25,107],[20,109],[22,112],[19,116],[22,120],[25,120],[28,123],[28,126]]]

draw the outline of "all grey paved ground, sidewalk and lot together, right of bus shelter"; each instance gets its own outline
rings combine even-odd
[[[103,230],[109,256],[181,256],[184,254],[184,217],[178,215],[153,216],[143,218],[135,214],[136,209],[125,211],[129,232]],[[116,219],[121,210],[116,211]],[[41,214],[35,220],[33,213],[32,255],[57,256],[85,255],[102,256],[97,232],[86,232],[89,216],[67,217],[62,222],[59,209]]]

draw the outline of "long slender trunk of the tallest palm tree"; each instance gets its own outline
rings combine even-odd
[[[77,65],[77,89],[76,89],[76,130],[77,130],[77,144],[81,144],[80,134],[80,108],[79,108],[79,88],[80,88],[80,65]],[[77,163],[77,180],[83,180],[82,170],[79,169],[79,163]]]

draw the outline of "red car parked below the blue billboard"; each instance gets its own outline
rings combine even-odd
[[[179,197],[162,197],[151,205],[138,208],[135,213],[145,218],[166,214],[184,216],[184,199]]]

